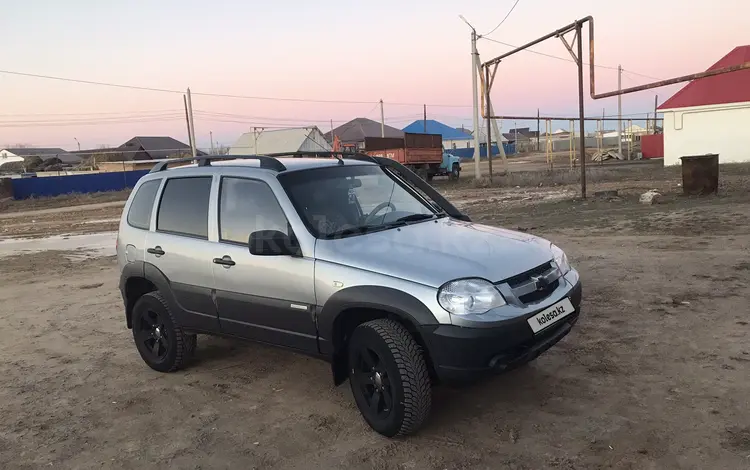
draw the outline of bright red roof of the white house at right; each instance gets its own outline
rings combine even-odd
[[[736,47],[708,70],[750,62],[750,46]],[[659,109],[687,108],[750,101],[750,69],[694,80],[665,101]]]

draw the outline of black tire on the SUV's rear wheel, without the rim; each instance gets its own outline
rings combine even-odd
[[[139,342],[136,332],[136,322],[140,315],[148,309],[155,312],[164,325],[165,332],[169,338],[166,355],[163,360],[154,361],[145,350],[145,346]],[[138,299],[133,306],[133,339],[136,343],[138,353],[143,361],[152,369],[159,372],[175,372],[182,369],[187,359],[195,351],[197,339],[195,335],[185,333],[174,318],[164,297],[159,292],[149,292]]]

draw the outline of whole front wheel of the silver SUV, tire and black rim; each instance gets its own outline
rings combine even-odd
[[[386,437],[415,432],[430,413],[432,389],[422,349],[393,320],[373,320],[354,330],[349,382],[367,424]]]

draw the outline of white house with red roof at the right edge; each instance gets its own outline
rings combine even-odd
[[[750,62],[740,46],[708,70]],[[680,157],[719,154],[719,163],[750,161],[750,69],[694,80],[658,108],[664,114],[664,165]]]

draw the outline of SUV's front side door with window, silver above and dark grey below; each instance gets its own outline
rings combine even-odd
[[[212,256],[222,331],[317,352],[313,259],[255,256],[248,248],[258,230],[292,234],[273,190],[258,179],[223,176],[218,197],[219,243]]]

